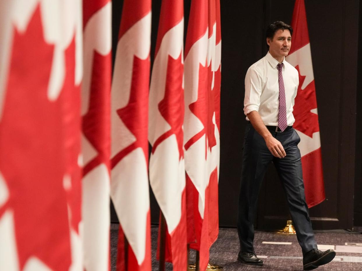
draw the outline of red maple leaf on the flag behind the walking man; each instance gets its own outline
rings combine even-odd
[[[298,65],[295,68],[299,74],[299,86],[293,107],[293,115],[295,117],[293,126],[303,134],[313,137],[313,133],[319,131],[318,115],[311,112],[312,109],[317,108],[314,80],[302,90],[306,76],[300,75]]]

